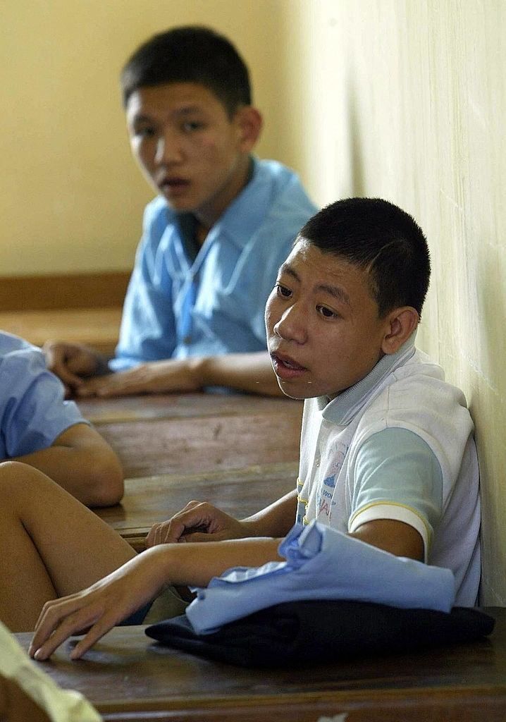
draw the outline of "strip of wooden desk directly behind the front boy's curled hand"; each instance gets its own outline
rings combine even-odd
[[[209,501],[231,516],[244,518],[295,489],[296,479],[294,462],[126,479],[121,504],[95,509],[95,513],[140,551],[154,523],[170,518],[193,499]]]

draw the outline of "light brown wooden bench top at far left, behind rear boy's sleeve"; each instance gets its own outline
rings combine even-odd
[[[114,353],[120,321],[121,308],[116,306],[0,313],[0,329],[35,346],[58,339],[87,344],[106,355]]]

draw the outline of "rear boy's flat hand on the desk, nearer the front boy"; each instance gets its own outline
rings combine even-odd
[[[170,359],[139,364],[126,371],[96,376],[81,382],[78,396],[128,396],[133,393],[199,391],[201,384],[193,373],[194,361]]]

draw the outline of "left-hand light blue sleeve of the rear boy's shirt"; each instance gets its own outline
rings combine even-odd
[[[173,284],[167,270],[167,206],[155,199],[144,212],[144,227],[123,304],[112,371],[172,357],[175,349]]]

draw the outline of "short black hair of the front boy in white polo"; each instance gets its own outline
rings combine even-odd
[[[298,238],[367,271],[380,318],[399,306],[422,315],[429,248],[422,229],[398,206],[380,198],[336,201],[310,218]]]

